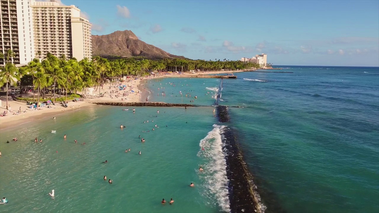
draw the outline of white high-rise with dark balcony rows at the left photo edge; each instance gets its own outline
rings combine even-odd
[[[0,0],[0,53],[16,66],[28,64],[34,58],[34,38],[31,0]],[[0,65],[5,61],[0,59]]]

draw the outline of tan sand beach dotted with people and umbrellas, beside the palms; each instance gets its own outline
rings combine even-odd
[[[195,74],[186,73],[185,75],[207,75],[207,74],[222,74],[242,72],[238,71],[213,71],[213,72],[197,72]],[[11,107],[7,116],[0,117],[0,129],[13,127],[30,121],[35,121],[44,117],[54,117],[55,115],[66,113],[74,110],[81,110],[82,108],[94,105],[94,102],[144,102],[148,96],[148,92],[144,90],[143,84],[146,80],[153,78],[166,78],[166,77],[183,77],[181,74],[168,74],[168,75],[149,75],[139,79],[128,79],[126,82],[110,82],[103,85],[100,90],[101,97],[99,97],[99,90],[92,91],[92,94],[86,94],[87,97],[81,98],[79,102],[68,101],[68,107],[58,105],[50,105],[51,108],[40,107],[40,110],[29,108],[25,102],[14,101],[8,96],[8,105]],[[119,86],[126,86],[125,89],[120,90]],[[81,92],[78,92],[81,94]],[[0,98],[2,106],[0,113],[6,111],[6,97]],[[20,112],[19,112],[20,111]]]

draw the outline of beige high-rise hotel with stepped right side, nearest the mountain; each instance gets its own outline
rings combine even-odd
[[[56,0],[31,0],[31,7],[36,58],[45,58],[51,53],[78,61],[91,59],[91,23],[80,17],[80,9],[75,5],[60,5]]]

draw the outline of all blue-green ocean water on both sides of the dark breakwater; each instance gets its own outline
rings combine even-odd
[[[229,108],[227,125],[238,135],[266,212],[378,212],[379,69],[284,68],[294,73],[244,72],[224,80],[220,103],[244,107]],[[144,87],[151,101],[209,106],[219,82],[165,78]],[[133,114],[93,106],[2,130],[0,196],[9,203],[0,211],[228,212],[213,109],[136,107]],[[13,137],[19,141],[6,143]],[[55,199],[47,195],[52,189]],[[162,198],[175,202],[162,205]]]

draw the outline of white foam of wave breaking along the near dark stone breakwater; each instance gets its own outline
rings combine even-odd
[[[204,171],[199,172],[200,179],[205,182],[206,195],[214,197],[223,211],[230,212],[229,180],[226,175],[225,153],[222,151],[225,144],[221,138],[224,127],[213,125],[213,130],[200,141],[197,156],[206,161],[201,165]],[[201,147],[204,147],[204,150]]]

